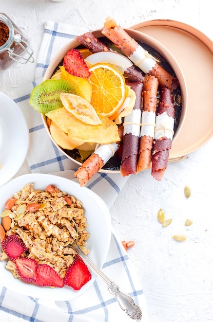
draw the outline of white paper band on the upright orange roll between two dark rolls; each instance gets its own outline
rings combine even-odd
[[[154,112],[142,112],[141,117],[141,133],[140,136],[154,137],[154,128],[156,126],[156,113]]]

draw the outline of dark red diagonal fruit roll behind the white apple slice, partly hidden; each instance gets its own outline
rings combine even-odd
[[[93,35],[92,32],[88,31],[80,36],[75,38],[80,44],[84,45],[88,48],[92,53],[100,52],[100,51],[112,51],[109,47],[107,47],[104,43],[102,43],[98,38]],[[141,70],[138,70],[134,65],[128,67],[124,71],[124,77],[128,79],[130,82],[136,82],[143,80],[143,76],[141,74]]]

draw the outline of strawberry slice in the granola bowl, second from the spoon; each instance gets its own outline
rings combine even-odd
[[[63,279],[55,272],[48,264],[38,264],[37,266],[36,283],[41,286],[53,286],[62,288],[64,285]]]

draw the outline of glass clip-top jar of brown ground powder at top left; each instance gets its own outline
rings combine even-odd
[[[34,62],[33,50],[20,29],[4,13],[0,13],[0,70],[18,62]]]

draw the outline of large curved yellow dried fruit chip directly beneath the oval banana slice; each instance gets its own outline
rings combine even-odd
[[[100,144],[120,141],[118,127],[108,117],[100,116],[102,123],[93,126],[76,119],[65,108],[51,111],[46,116],[73,139]]]

